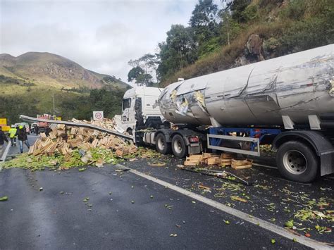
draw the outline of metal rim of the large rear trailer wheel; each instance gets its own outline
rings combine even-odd
[[[293,175],[301,175],[307,170],[307,158],[302,152],[289,150],[283,156],[283,164],[287,171]]]

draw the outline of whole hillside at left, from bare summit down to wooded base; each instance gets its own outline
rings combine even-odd
[[[0,55],[0,117],[8,123],[21,114],[54,113],[63,119],[89,120],[92,111],[106,117],[120,113],[129,85],[114,76],[95,73],[78,63],[50,53],[28,52],[18,57]]]

